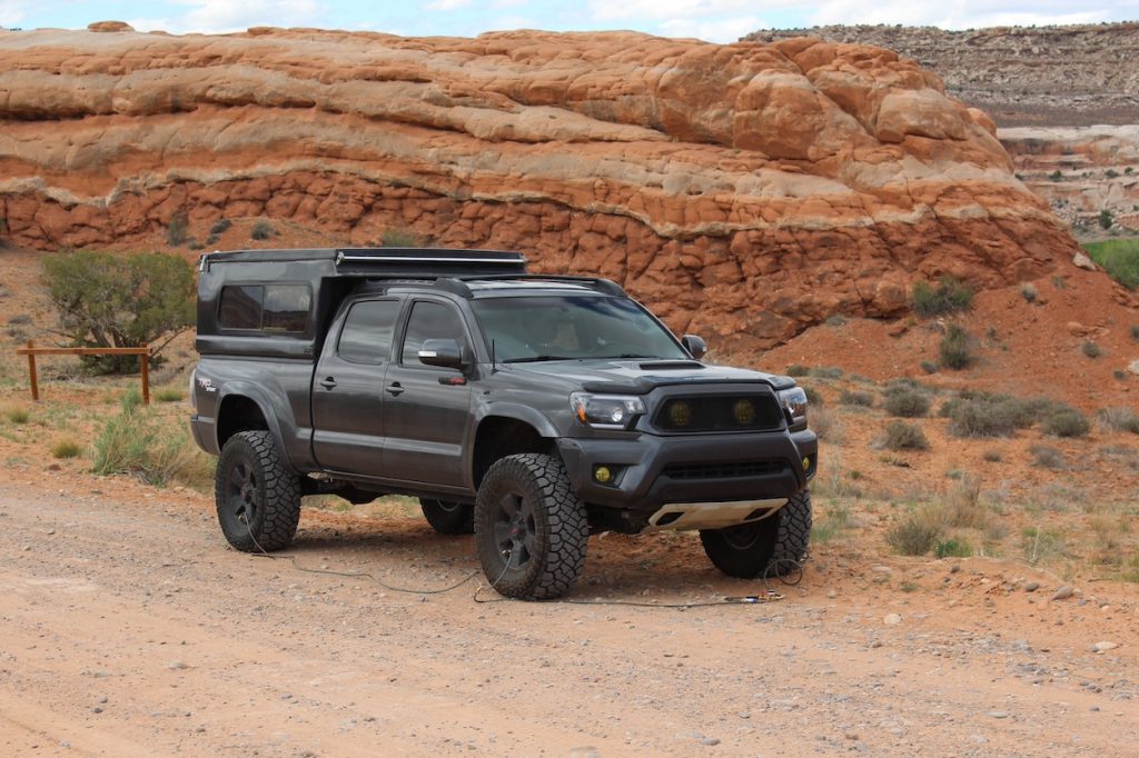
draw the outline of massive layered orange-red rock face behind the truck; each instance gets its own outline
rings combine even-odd
[[[622,282],[773,345],[1074,242],[992,122],[883,49],[632,33],[0,32],[0,216],[43,249],[265,216]],[[724,344],[720,340],[718,344]]]

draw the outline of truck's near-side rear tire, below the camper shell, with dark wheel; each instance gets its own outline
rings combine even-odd
[[[246,553],[288,547],[301,520],[301,478],[281,459],[268,431],[239,431],[226,440],[214,478],[222,534]]]

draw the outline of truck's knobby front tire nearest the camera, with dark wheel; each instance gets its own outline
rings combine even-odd
[[[499,594],[522,600],[564,595],[585,566],[588,539],[585,505],[559,459],[508,455],[483,477],[475,546]]]

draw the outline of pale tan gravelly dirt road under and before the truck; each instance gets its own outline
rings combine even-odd
[[[477,578],[402,594],[236,553],[199,495],[3,475],[2,755],[1139,755],[1126,587],[1052,601],[1013,565],[830,545],[769,604],[482,604]],[[590,551],[574,601],[756,590],[691,535]],[[409,587],[472,553],[418,519],[312,511],[289,551]]]

